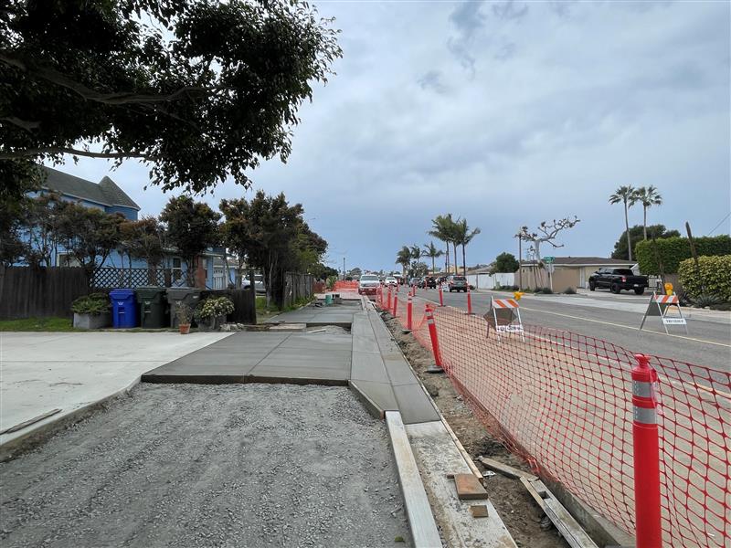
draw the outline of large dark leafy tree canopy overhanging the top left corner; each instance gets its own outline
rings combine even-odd
[[[249,184],[289,156],[337,32],[297,0],[6,0],[0,160],[136,158],[164,189]]]

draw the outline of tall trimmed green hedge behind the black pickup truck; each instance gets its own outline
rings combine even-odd
[[[667,237],[655,240],[657,252],[662,258],[662,269],[665,274],[677,274],[680,263],[691,255],[691,245],[687,237]],[[695,237],[695,251],[698,256],[715,257],[731,255],[731,236],[727,234],[715,237]],[[660,274],[655,258],[652,240],[637,242],[635,247],[637,262],[642,274]]]

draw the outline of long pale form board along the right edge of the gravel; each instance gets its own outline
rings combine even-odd
[[[398,481],[404,494],[408,524],[411,528],[414,546],[417,548],[441,546],[437,523],[434,522],[427,492],[421,483],[417,462],[411,452],[411,445],[408,442],[401,414],[398,411],[387,411],[386,423],[388,435],[391,437],[391,447],[396,458]]]

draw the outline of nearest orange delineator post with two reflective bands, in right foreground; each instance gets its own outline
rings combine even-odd
[[[662,548],[657,373],[644,354],[632,369],[635,527],[638,548]]]

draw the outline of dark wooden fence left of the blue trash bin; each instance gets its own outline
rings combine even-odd
[[[0,266],[0,320],[70,316],[71,302],[88,293],[83,269]]]

